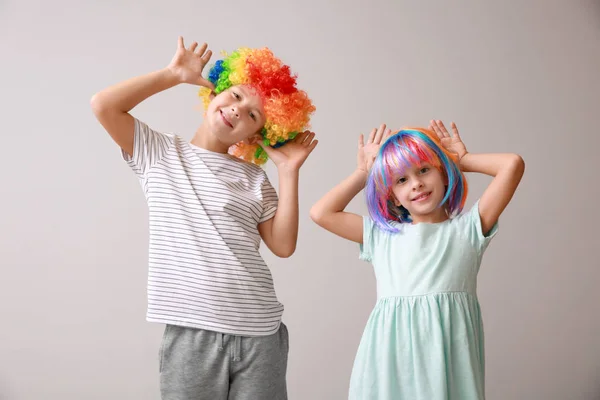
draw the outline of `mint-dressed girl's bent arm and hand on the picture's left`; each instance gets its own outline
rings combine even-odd
[[[368,171],[373,165],[377,151],[381,143],[390,135],[391,131],[386,129],[385,125],[371,131],[366,145],[363,135],[360,135],[356,170],[331,189],[310,210],[310,217],[317,225],[344,239],[362,244],[362,217],[344,210],[348,203],[365,187]]]

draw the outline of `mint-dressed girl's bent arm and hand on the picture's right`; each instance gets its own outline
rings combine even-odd
[[[468,153],[454,122],[452,135],[442,121],[431,121],[430,128],[437,133],[446,149],[458,155],[460,168],[464,172],[478,172],[494,177],[479,200],[481,228],[484,234],[488,233],[515,194],[525,172],[525,162],[517,154]]]

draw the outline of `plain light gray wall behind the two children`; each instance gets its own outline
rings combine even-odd
[[[352,171],[360,132],[430,118],[527,164],[480,274],[488,398],[600,399],[600,4],[367,3],[0,1],[1,399],[159,398],[147,209],[89,99],[165,66],[180,34],[271,47],[318,108],[298,250],[263,252],[291,332],[290,399],[345,398],[375,301],[357,246],[309,208]],[[198,105],[181,86],[134,115],[191,138]],[[470,176],[468,206],[488,181]]]

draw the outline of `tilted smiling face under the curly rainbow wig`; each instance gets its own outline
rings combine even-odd
[[[206,121],[219,142],[231,146],[251,140],[265,125],[260,96],[249,86],[232,86],[214,96],[206,110]]]

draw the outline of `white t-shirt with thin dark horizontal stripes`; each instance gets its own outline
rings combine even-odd
[[[279,329],[283,305],[259,253],[275,215],[264,170],[135,120],[133,157],[150,218],[147,320],[240,336]]]

